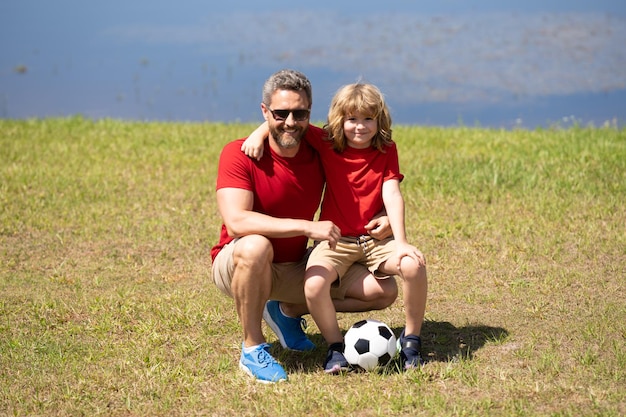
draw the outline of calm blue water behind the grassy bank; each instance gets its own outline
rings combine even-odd
[[[626,123],[626,2],[0,3],[0,117],[260,121],[274,71],[312,118],[356,80],[404,124]]]

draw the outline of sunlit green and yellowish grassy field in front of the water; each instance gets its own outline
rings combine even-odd
[[[0,415],[626,414],[625,130],[397,126],[429,364],[327,376],[309,320],[265,386],[209,279],[216,161],[252,127],[0,121]],[[364,317],[399,333],[402,301]]]

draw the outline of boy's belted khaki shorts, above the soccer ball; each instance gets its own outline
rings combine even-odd
[[[374,239],[371,236],[342,237],[337,242],[337,247],[332,250],[328,241],[318,243],[309,256],[308,264],[329,264],[337,276],[343,280],[344,274],[353,264],[365,266],[375,277],[388,277],[379,271],[380,266],[393,256],[396,250],[396,241],[393,238],[383,240]]]

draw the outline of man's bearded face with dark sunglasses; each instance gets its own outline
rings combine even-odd
[[[278,90],[269,106],[262,104],[275,151],[297,151],[309,126],[310,103],[301,91]],[[274,142],[274,143],[272,143]]]

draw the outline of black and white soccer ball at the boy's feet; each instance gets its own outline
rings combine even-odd
[[[344,356],[348,363],[371,371],[386,365],[396,354],[396,336],[389,326],[378,320],[361,320],[348,329],[344,337]]]

